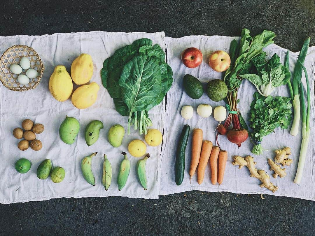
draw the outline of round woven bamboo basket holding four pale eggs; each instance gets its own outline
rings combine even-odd
[[[32,69],[37,70],[38,76],[34,79],[30,79],[30,83],[27,85],[22,85],[18,82],[18,75],[13,74],[10,71],[10,65],[20,64],[20,59],[22,57],[27,57],[30,59]],[[13,91],[26,91],[35,88],[43,76],[44,65],[39,55],[33,48],[25,45],[14,45],[8,48],[0,58],[0,80],[2,84]],[[23,75],[26,74],[26,70],[23,70]]]

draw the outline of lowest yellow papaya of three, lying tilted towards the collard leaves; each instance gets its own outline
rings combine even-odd
[[[92,106],[97,99],[99,89],[100,86],[95,82],[81,85],[72,94],[72,104],[78,109],[85,109]]]

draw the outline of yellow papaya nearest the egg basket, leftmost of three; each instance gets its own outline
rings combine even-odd
[[[70,98],[73,89],[72,79],[63,65],[57,65],[49,78],[49,91],[53,97],[60,101]]]

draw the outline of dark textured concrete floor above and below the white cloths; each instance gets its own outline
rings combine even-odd
[[[3,1],[0,35],[165,31],[166,36],[239,36],[274,31],[299,51],[315,45],[314,0]],[[207,3],[205,3],[207,2]],[[310,186],[314,188],[314,186]],[[264,195],[187,193],[158,200],[52,199],[0,205],[0,235],[315,235],[315,202]]]

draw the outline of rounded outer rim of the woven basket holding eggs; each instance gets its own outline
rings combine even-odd
[[[10,87],[6,84],[6,81],[3,80],[3,78],[7,78],[9,79],[8,77],[6,76],[0,76],[0,81],[2,82],[3,86],[6,87],[7,89],[11,90],[11,91],[14,91],[14,92],[23,92],[23,91],[27,91],[27,90],[30,90],[30,89],[33,89],[35,88],[42,76],[43,76],[43,73],[44,73],[44,70],[45,70],[45,66],[42,62],[42,59],[40,58],[39,54],[31,47],[27,46],[27,45],[22,45],[22,44],[18,44],[18,45],[13,45],[11,46],[10,48],[8,48],[7,50],[5,50],[2,54],[2,56],[0,57],[0,65],[2,64],[3,60],[4,60],[4,57],[6,54],[8,54],[12,49],[15,49],[15,48],[27,48],[29,51],[32,51],[34,53],[34,56],[37,57],[37,60],[39,61],[40,65],[41,65],[41,70],[40,70],[40,74],[37,76],[37,81],[31,86],[31,87]],[[18,89],[17,89],[18,88]]]

